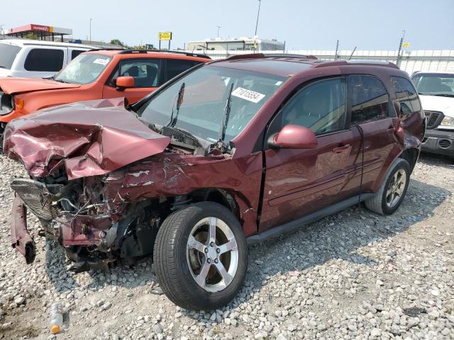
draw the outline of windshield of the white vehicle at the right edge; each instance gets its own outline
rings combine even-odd
[[[454,96],[454,74],[416,74],[413,79],[419,94]]]

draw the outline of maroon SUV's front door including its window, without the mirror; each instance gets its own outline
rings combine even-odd
[[[345,130],[348,113],[345,77],[316,81],[299,90],[270,123],[267,138],[285,125],[301,125],[316,135],[314,149],[265,146],[265,183],[260,232],[303,217],[340,200],[345,170],[358,148]]]

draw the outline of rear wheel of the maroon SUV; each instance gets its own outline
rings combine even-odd
[[[380,215],[392,215],[404,200],[410,174],[408,162],[402,158],[396,159],[375,196],[365,200],[367,209]]]

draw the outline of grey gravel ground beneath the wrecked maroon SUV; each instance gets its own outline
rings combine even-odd
[[[23,170],[0,156],[0,171],[0,339],[454,339],[454,166],[445,159],[422,157],[392,216],[356,206],[251,246],[238,297],[206,312],[153,294],[150,260],[73,274],[62,250],[36,235],[27,266],[9,238],[9,179]],[[57,336],[48,329],[55,301],[67,311]]]

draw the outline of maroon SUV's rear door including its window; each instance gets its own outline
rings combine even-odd
[[[399,118],[395,117],[389,104],[389,94],[377,77],[367,74],[351,75],[348,77],[348,88],[351,103],[350,131],[354,134],[352,142],[353,147],[360,152],[353,169],[346,174],[343,191],[347,194],[359,193],[360,190],[362,193],[371,193],[374,183],[385,172],[387,161],[397,145]]]

